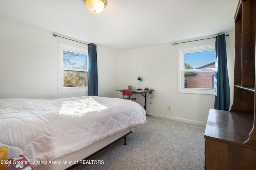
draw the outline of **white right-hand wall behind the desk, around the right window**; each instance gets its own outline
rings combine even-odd
[[[230,77],[231,101],[234,83],[234,32],[226,37],[228,73]],[[213,37],[213,36],[211,36]],[[200,37],[208,38],[208,37]],[[185,40],[186,41],[186,40]],[[133,49],[118,53],[118,89],[138,88],[137,76],[142,78],[140,88],[154,88],[154,96],[147,102],[147,113],[163,117],[167,107],[171,110],[165,118],[205,125],[210,108],[214,108],[214,95],[178,93],[178,48],[215,43],[214,39],[172,45],[166,43],[152,47]],[[176,43],[176,42],[175,42]],[[120,92],[118,97],[122,97]],[[134,96],[144,106],[142,95]],[[150,96],[148,96],[150,98]]]

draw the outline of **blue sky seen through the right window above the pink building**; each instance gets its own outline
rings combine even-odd
[[[186,53],[185,63],[190,64],[194,69],[206,64],[215,62],[215,51],[203,51],[197,53]]]

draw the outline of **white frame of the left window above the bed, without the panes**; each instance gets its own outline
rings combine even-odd
[[[63,51],[70,51],[86,55],[86,69],[76,68],[63,68]],[[87,72],[87,82],[84,87],[64,87],[64,70],[71,71],[83,71]],[[89,59],[88,59],[88,48],[80,47],[78,45],[72,45],[58,41],[58,94],[62,93],[75,93],[75,92],[88,92],[88,70],[89,70]]]

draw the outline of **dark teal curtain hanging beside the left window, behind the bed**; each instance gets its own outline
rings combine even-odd
[[[89,73],[88,96],[98,96],[98,66],[96,45],[88,44]]]

